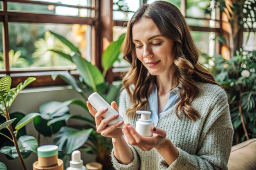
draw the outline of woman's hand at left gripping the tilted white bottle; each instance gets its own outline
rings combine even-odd
[[[92,107],[90,102],[87,101],[86,105],[89,109],[90,114],[92,114],[92,116],[95,119],[96,131],[98,133],[100,133],[104,137],[111,137],[111,138],[117,138],[117,137],[121,137],[123,135],[122,129],[119,128],[122,124],[124,124],[123,120],[118,121],[117,123],[108,126],[108,123],[114,119],[117,119],[119,114],[112,115],[111,117],[107,117],[106,119],[104,119],[102,117],[102,115],[104,113],[106,113],[106,111],[108,111],[108,108],[104,108],[102,110],[99,110],[99,112],[97,112]],[[111,107],[118,111],[118,106],[117,106],[116,102],[112,102]]]

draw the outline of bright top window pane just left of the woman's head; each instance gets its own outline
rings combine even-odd
[[[113,0],[113,20],[128,21],[139,9],[139,0]]]

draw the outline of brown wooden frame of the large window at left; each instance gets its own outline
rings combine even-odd
[[[19,23],[54,23],[54,24],[87,24],[92,26],[92,63],[99,66],[100,64],[100,53],[98,50],[100,48],[99,43],[99,28],[100,28],[100,9],[99,2],[100,0],[94,0],[94,7],[81,7],[75,5],[68,4],[58,4],[52,2],[40,2],[40,1],[30,1],[30,0],[0,0],[2,3],[2,11],[0,11],[0,22],[3,23],[2,26],[2,43],[3,43],[3,53],[4,53],[4,66],[5,70],[0,71],[0,75],[11,75],[12,84],[11,86],[17,86],[20,82],[24,82],[27,77],[31,77],[37,73],[40,75],[35,75],[36,81],[31,83],[30,87],[35,86],[50,86],[50,85],[62,85],[65,82],[57,77],[54,81],[51,78],[51,71],[67,71],[67,69],[61,70],[42,70],[38,68],[38,70],[25,70],[20,69],[19,71],[12,71],[9,68],[9,30],[8,23],[9,22],[19,22]],[[28,3],[28,4],[42,4],[42,5],[54,5],[54,6],[62,6],[62,7],[74,7],[79,9],[91,9],[95,10],[94,18],[83,18],[83,17],[72,17],[72,16],[61,16],[61,15],[52,15],[52,14],[41,14],[41,13],[32,13],[32,12],[13,12],[7,10],[7,2],[20,2],[20,3]],[[72,70],[68,70],[72,73]],[[31,76],[28,76],[27,73],[31,73]],[[78,77],[76,73],[74,73],[75,77]],[[1,76],[1,77],[2,77]]]

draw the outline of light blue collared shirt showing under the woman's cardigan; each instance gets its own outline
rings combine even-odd
[[[157,86],[154,85],[153,91],[150,93],[148,97],[148,104],[151,111],[150,119],[154,122],[155,126],[157,126],[159,119],[163,115],[163,113],[169,108],[173,107],[177,102],[179,102],[180,97],[177,95],[177,91],[179,88],[176,87],[170,91],[169,99],[164,106],[161,113],[158,113],[158,95],[157,95]]]

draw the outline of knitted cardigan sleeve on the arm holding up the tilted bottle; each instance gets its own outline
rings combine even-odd
[[[124,118],[125,122],[127,122],[127,119],[125,116],[125,113],[127,110],[126,100],[127,100],[127,92],[124,89],[123,91],[121,91],[121,94],[120,94],[118,110],[119,110],[119,114]],[[124,138],[127,142],[126,137],[124,137]],[[128,142],[127,142],[127,144],[128,144]],[[139,155],[137,154],[137,152],[136,152],[135,148],[133,148],[133,146],[131,146],[130,144],[128,144],[128,146],[131,149],[132,155],[133,155],[133,160],[128,165],[119,163],[114,155],[114,149],[112,149],[110,156],[111,156],[112,165],[116,170],[138,170],[139,169],[139,167],[140,167]]]

